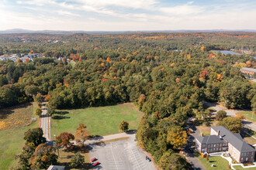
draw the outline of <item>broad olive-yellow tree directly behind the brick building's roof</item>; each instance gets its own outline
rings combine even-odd
[[[241,120],[237,117],[225,117],[223,121],[218,123],[220,126],[224,126],[228,130],[232,131],[233,133],[240,133],[240,130],[243,128],[243,124]]]

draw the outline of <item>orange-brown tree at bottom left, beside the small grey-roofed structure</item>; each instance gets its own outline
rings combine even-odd
[[[29,163],[32,169],[44,169],[50,165],[56,165],[57,155],[55,155],[55,148],[46,144],[38,145],[31,158],[29,158]]]

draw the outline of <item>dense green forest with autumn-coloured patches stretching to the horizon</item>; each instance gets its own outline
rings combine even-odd
[[[0,107],[32,101],[38,93],[57,109],[133,102],[145,114],[137,133],[140,147],[161,168],[173,165],[171,160],[179,160],[185,168],[184,160],[172,154],[179,146],[168,137],[181,132],[187,118],[204,114],[202,100],[255,111],[256,85],[240,73],[243,66],[256,66],[255,36],[247,32],[3,35],[0,54],[33,51],[47,57],[26,63],[0,61]],[[49,42],[56,39],[59,42]],[[213,49],[247,49],[252,54],[224,55]]]

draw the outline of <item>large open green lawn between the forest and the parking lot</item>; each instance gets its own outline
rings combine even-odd
[[[58,111],[63,114],[51,119],[52,138],[54,134],[59,135],[64,131],[74,134],[78,124],[85,124],[90,134],[100,136],[119,133],[122,120],[128,121],[129,129],[133,130],[137,129],[143,116],[133,104]]]

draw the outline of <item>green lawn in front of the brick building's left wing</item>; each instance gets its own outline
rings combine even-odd
[[[206,170],[209,169],[221,169],[221,170],[226,170],[228,168],[228,162],[226,159],[221,158],[220,156],[216,157],[209,157],[209,163],[207,163],[206,158],[202,158],[202,156],[199,153],[194,153],[196,158],[199,159],[199,162],[202,163],[202,165],[206,168]],[[212,165],[216,165],[216,167],[212,167]]]

